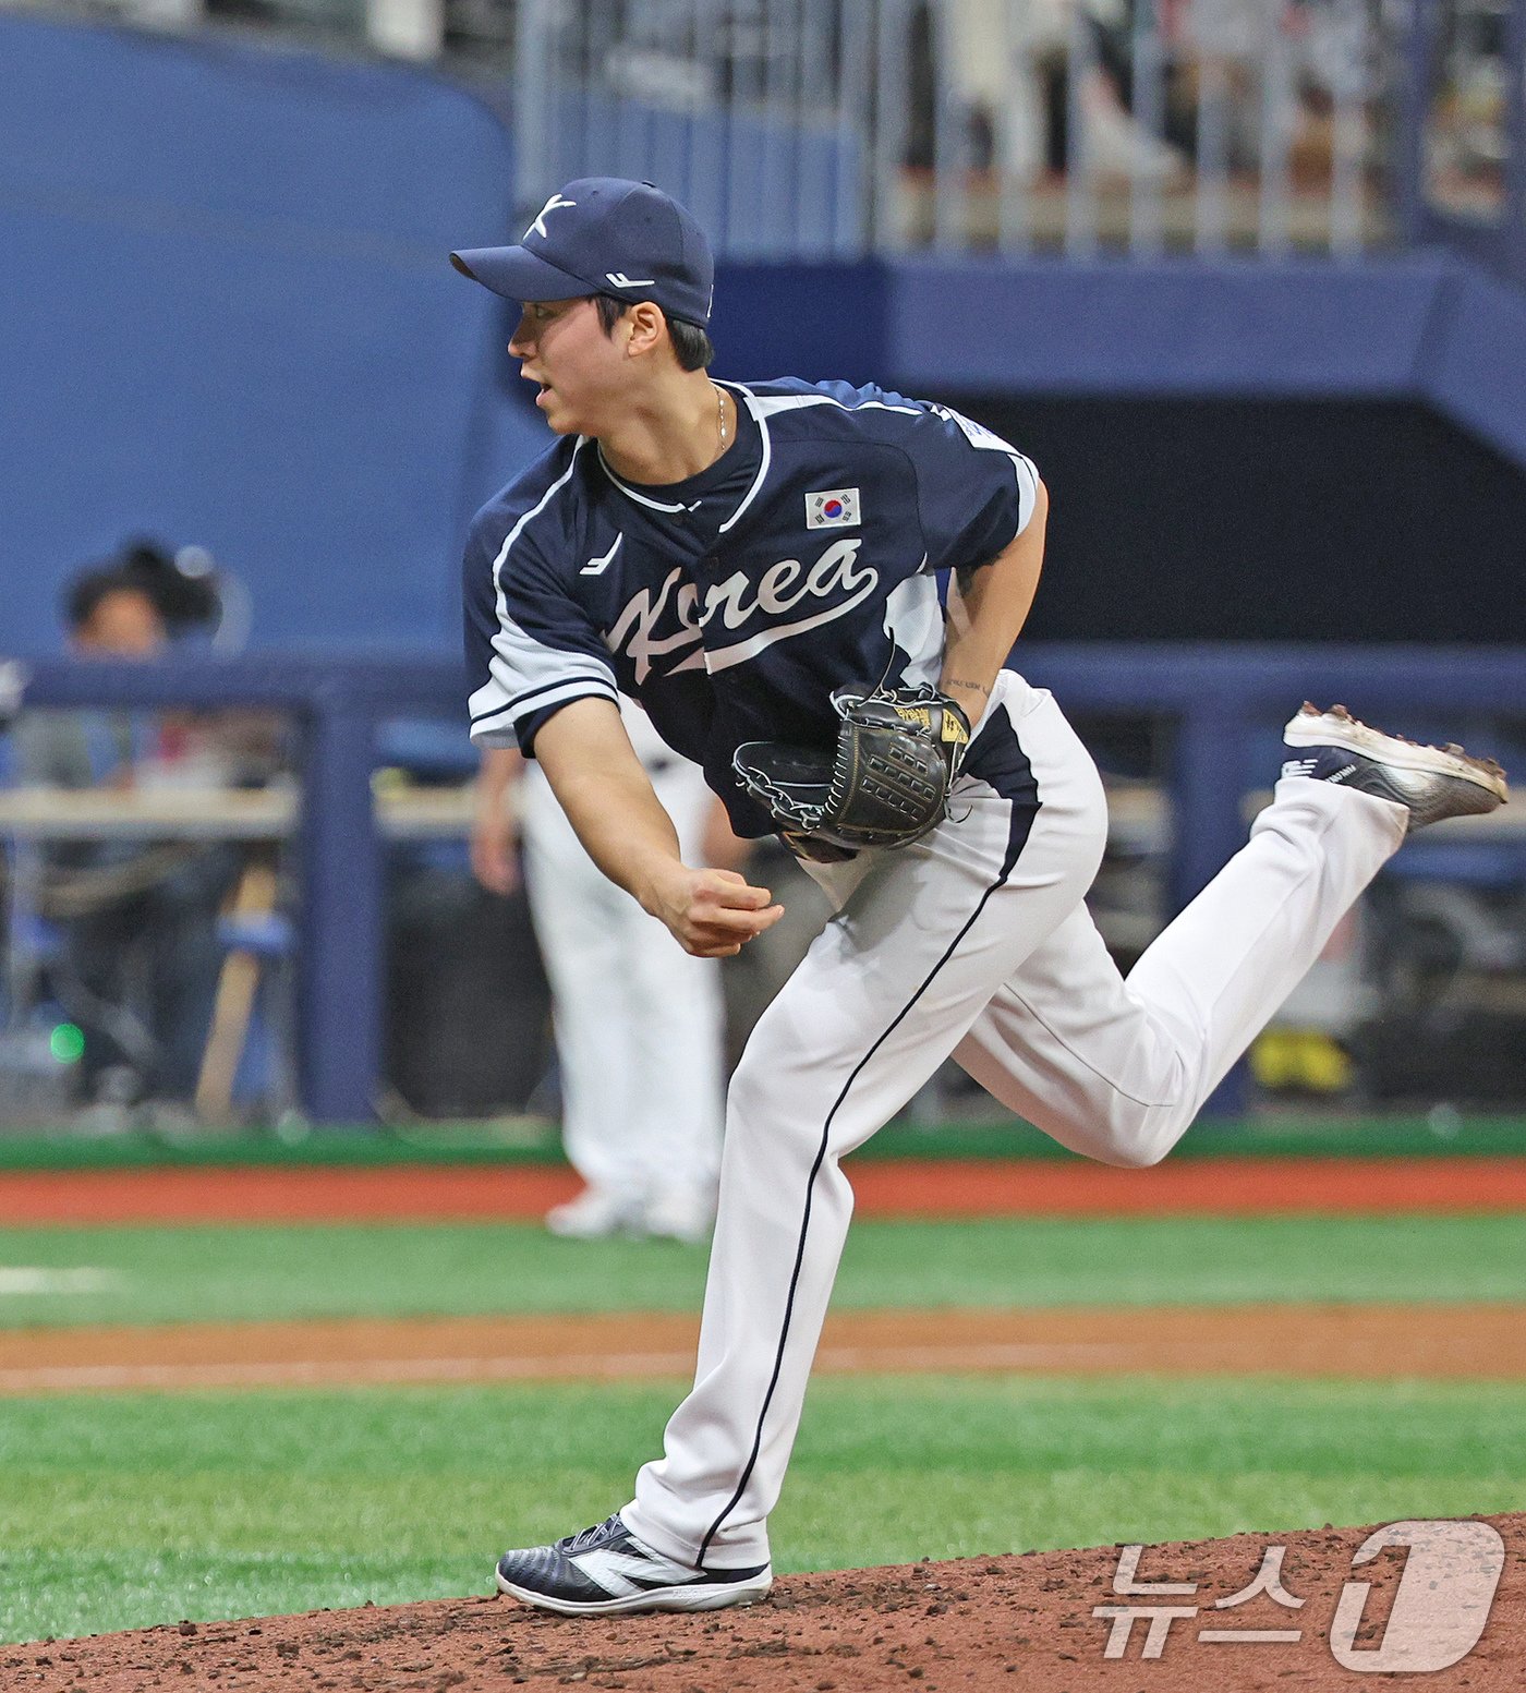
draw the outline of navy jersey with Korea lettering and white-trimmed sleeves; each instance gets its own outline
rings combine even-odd
[[[723,386],[737,440],[698,476],[637,486],[596,440],[562,438],[478,513],[466,660],[478,745],[530,753],[562,706],[625,692],[752,836],[774,823],[737,789],[735,748],[832,747],[835,687],[937,682],[937,572],[994,559],[1038,476],[948,406],[845,383]]]

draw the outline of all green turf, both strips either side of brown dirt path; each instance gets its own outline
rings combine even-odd
[[[693,1309],[703,1253],[539,1229],[25,1229],[5,1329]],[[3,1285],[3,1282],[0,1282]],[[615,1292],[611,1292],[615,1290]],[[838,1304],[1518,1300],[1518,1217],[865,1222]],[[0,1400],[0,1639],[484,1591],[620,1505],[683,1383]],[[1526,1383],[825,1378],[779,1568],[1518,1508]]]

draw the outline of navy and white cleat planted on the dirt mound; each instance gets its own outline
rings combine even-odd
[[[562,1617],[633,1610],[725,1610],[754,1605],[774,1585],[771,1564],[696,1569],[639,1541],[620,1512],[552,1546],[528,1546],[498,1559],[498,1591]]]

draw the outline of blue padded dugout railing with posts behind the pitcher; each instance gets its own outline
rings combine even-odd
[[[1245,840],[1245,797],[1275,775],[1275,731],[1301,699],[1346,701],[1379,723],[1526,740],[1526,648],[1126,647],[1021,648],[1025,676],[1077,718],[1170,725],[1169,909],[1180,909]],[[178,659],[107,664],[47,659],[22,669],[24,708],[259,706],[296,725],[298,1087],[318,1124],[376,1117],[381,1075],[383,850],[373,792],[378,728],[398,718],[459,725],[459,665],[437,657]],[[1482,736],[1482,740],[1480,740]],[[1526,819],[1429,836],[1411,874],[1448,874],[1490,855],[1490,875],[1526,885]],[[508,1038],[508,1031],[505,1031]],[[1214,1107],[1243,1104],[1238,1078]]]

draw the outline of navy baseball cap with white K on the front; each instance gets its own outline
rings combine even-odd
[[[661,188],[623,176],[581,176],[545,201],[518,247],[452,252],[451,262],[505,300],[652,300],[701,328],[715,293],[705,230]]]

